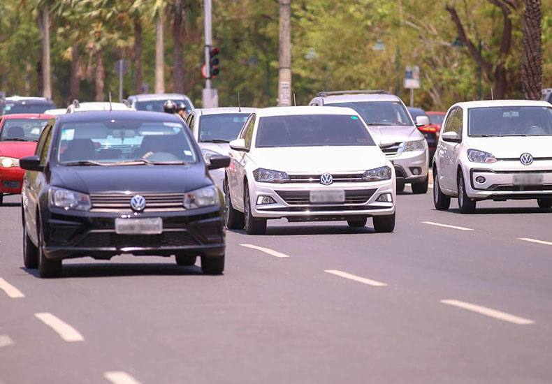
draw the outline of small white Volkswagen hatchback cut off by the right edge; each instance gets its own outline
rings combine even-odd
[[[536,199],[552,207],[552,105],[472,101],[447,112],[433,160],[435,208],[458,197],[462,213],[479,200]]]

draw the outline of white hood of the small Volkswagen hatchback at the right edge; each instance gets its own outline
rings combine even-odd
[[[507,138],[467,138],[472,149],[491,152],[496,158],[517,158],[521,154],[550,157],[552,136],[511,136]]]

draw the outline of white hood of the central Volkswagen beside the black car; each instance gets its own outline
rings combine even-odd
[[[386,164],[377,146],[256,148],[249,155],[260,168],[282,172],[364,172]]]

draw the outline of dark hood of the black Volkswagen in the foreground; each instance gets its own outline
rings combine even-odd
[[[179,193],[212,184],[205,165],[61,166],[52,168],[53,186],[82,193]]]

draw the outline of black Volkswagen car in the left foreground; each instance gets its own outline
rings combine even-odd
[[[213,161],[215,160],[215,161]],[[24,265],[61,275],[61,260],[121,253],[201,256],[207,274],[224,270],[224,203],[180,117],[106,111],[59,115],[36,154],[22,158]]]

